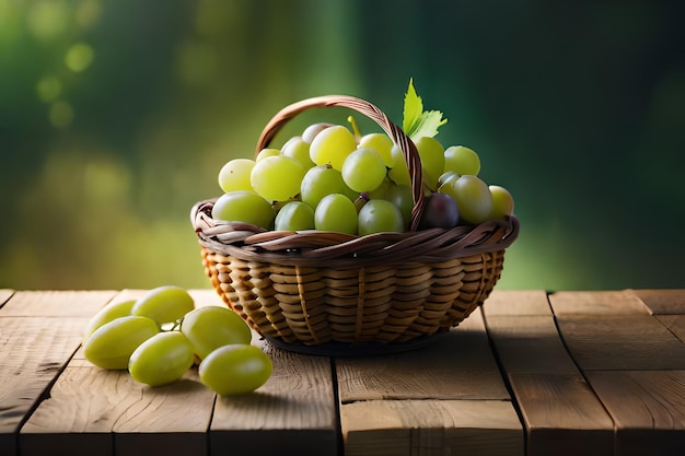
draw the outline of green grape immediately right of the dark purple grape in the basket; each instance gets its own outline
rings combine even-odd
[[[488,220],[492,210],[492,195],[488,185],[478,177],[466,174],[441,187],[440,192],[456,201],[460,218],[474,224]]]

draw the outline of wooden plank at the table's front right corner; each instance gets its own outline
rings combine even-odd
[[[616,423],[616,455],[685,454],[685,371],[593,371]]]

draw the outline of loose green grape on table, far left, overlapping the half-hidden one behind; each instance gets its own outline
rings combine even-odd
[[[159,332],[160,327],[152,318],[119,317],[95,329],[83,343],[83,356],[102,369],[127,369],[138,346]]]

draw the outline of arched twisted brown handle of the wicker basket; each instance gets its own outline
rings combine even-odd
[[[381,109],[364,100],[347,95],[327,95],[302,100],[286,106],[271,118],[266,127],[264,127],[264,130],[259,136],[259,140],[257,141],[255,154],[259,153],[262,149],[268,147],[274,137],[276,137],[276,133],[298,114],[314,107],[330,106],[347,107],[363,114],[371,120],[375,121],[383,129],[383,131],[387,133],[393,142],[399,147],[409,171],[411,195],[414,198],[414,208],[411,209],[409,229],[411,231],[417,231],[421,220],[421,214],[423,213],[426,196],[423,194],[421,159],[419,157],[416,144],[414,144],[402,128],[393,124]]]

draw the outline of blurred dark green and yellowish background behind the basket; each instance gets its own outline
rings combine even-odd
[[[684,4],[0,0],[0,288],[209,287],[220,167],[309,96],[402,122],[411,77],[514,195],[499,288],[682,288]]]

